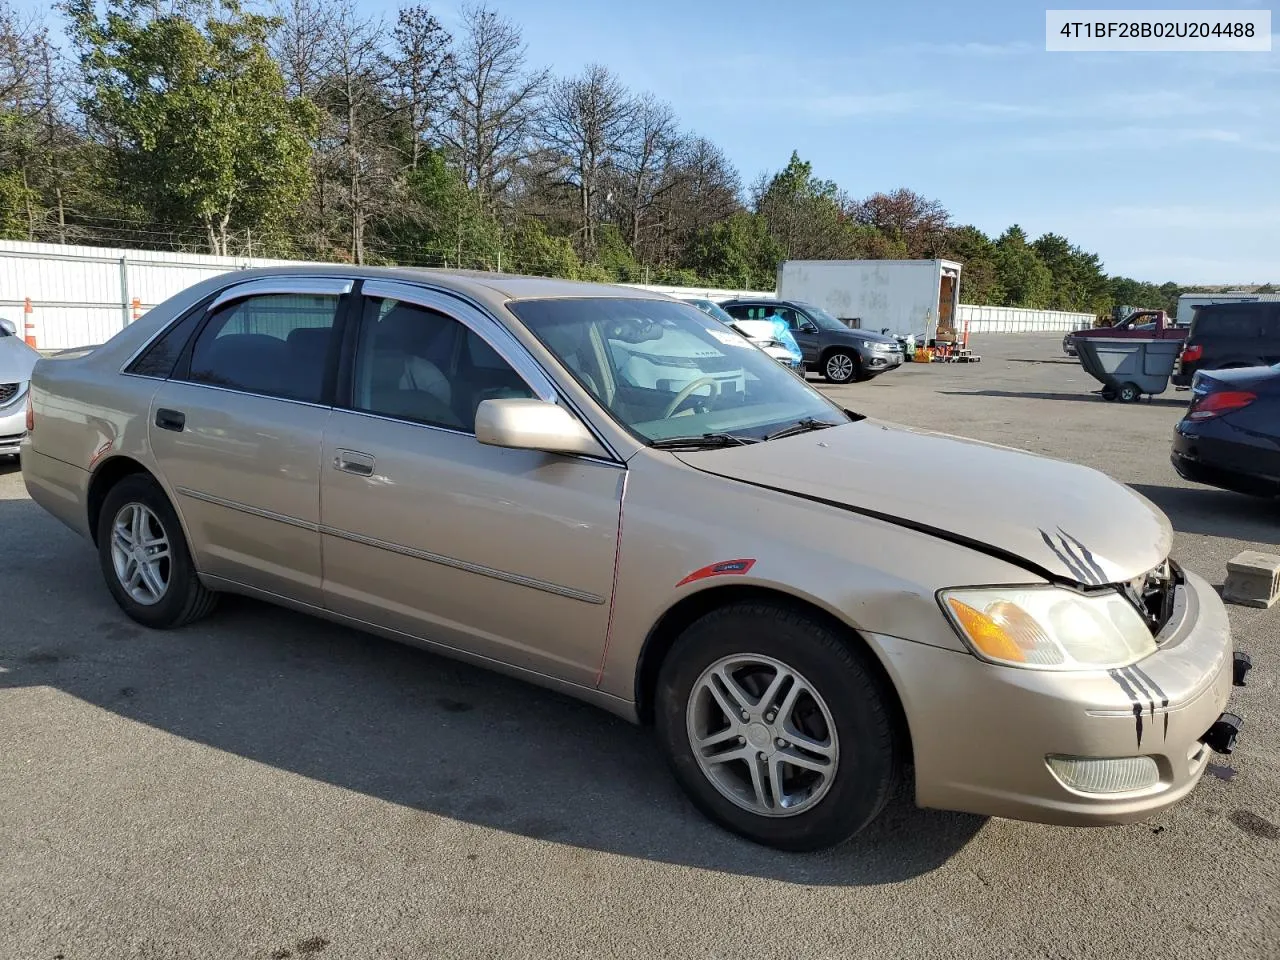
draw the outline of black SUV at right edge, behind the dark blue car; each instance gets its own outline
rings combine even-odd
[[[1172,380],[1176,387],[1190,387],[1197,370],[1276,362],[1280,362],[1280,302],[1206,303],[1196,308]]]

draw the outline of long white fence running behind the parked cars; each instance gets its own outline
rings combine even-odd
[[[29,321],[41,349],[84,347],[101,343],[156,303],[209,276],[301,262],[0,241],[0,316],[13,320],[19,332]],[[774,296],[768,291],[627,285],[717,301]],[[28,301],[31,312],[26,314]],[[957,320],[968,320],[969,332],[975,334],[1075,330],[1093,324],[1089,314],[964,303]]]

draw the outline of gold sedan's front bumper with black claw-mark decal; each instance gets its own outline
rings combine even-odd
[[[916,803],[989,817],[1089,826],[1144,819],[1204,773],[1202,742],[1231,692],[1226,608],[1187,573],[1160,649],[1121,671],[1044,673],[873,636],[906,709]],[[1148,756],[1153,786],[1091,794],[1065,786],[1051,755]]]

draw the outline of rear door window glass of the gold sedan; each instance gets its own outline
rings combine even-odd
[[[191,351],[193,383],[320,403],[338,297],[270,293],[221,307]]]

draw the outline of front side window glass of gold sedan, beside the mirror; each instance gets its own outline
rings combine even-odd
[[[356,410],[465,433],[484,401],[535,396],[475,330],[390,298],[365,301],[353,387]]]

